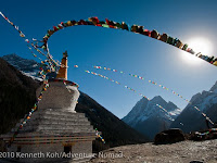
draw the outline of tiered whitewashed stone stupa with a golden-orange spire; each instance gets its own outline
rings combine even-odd
[[[8,152],[14,154],[10,159],[21,162],[73,162],[92,156],[95,130],[84,113],[75,111],[79,91],[77,84],[67,80],[67,52],[63,53],[62,65],[56,77],[49,79],[49,88],[43,92],[38,110],[8,147]],[[42,87],[41,84],[37,89],[37,97]],[[10,141],[20,124],[1,136],[4,142]]]

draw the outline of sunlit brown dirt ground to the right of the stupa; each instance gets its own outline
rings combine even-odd
[[[98,156],[89,163],[190,163],[191,161],[217,163],[217,139],[116,147],[98,153]]]

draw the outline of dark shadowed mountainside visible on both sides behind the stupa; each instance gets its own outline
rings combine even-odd
[[[17,62],[20,61],[17,60]],[[16,62],[14,64],[18,66]],[[22,64],[18,68],[24,71]],[[24,75],[0,58],[0,122],[2,124],[0,134],[8,133],[30,111],[36,100],[35,91],[37,87],[39,87],[37,80]],[[102,131],[106,143],[104,145],[101,139],[97,139],[93,142],[94,151],[108,147],[148,141],[148,138],[126,125],[122,120],[81,91],[76,111],[85,113],[91,125]]]

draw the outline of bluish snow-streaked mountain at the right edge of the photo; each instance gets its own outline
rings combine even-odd
[[[170,127],[181,128],[186,133],[207,129],[205,117],[194,106],[197,106],[202,112],[207,114],[214,123],[217,122],[217,82],[209,91],[204,90],[194,95],[190,102],[191,104],[184,108]],[[183,125],[180,125],[180,123]]]

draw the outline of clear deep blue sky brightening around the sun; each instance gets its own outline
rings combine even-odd
[[[214,57],[217,57],[216,7],[216,0],[0,1],[0,11],[27,38],[41,40],[48,29],[61,22],[98,16],[102,21],[108,18],[166,33],[184,43],[195,46],[203,54]],[[141,99],[139,92],[150,99],[162,96],[180,109],[188,104],[148,80],[168,87],[189,100],[197,92],[209,90],[217,80],[216,66],[156,39],[120,29],[67,27],[51,36],[49,49],[59,61],[67,50],[68,80],[77,83],[80,91],[120,118]],[[30,54],[18,33],[0,17],[0,57],[11,53],[39,62]],[[75,64],[79,67],[75,68]],[[93,65],[115,68],[125,74],[95,70]],[[120,85],[85,71],[105,75]],[[142,76],[144,80],[133,78],[129,73]],[[124,86],[131,87],[138,93]]]

